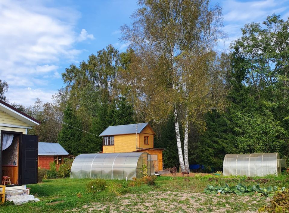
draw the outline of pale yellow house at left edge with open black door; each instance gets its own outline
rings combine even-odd
[[[10,178],[6,197],[16,204],[25,199],[35,200],[32,195],[28,196],[26,184],[37,183],[38,136],[27,135],[27,130],[39,124],[38,120],[0,100],[0,173],[1,179]],[[15,201],[15,195],[22,197],[17,196]]]

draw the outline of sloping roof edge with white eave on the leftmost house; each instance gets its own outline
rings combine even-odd
[[[5,103],[2,100],[0,100],[0,110],[30,126],[41,124],[40,121],[36,120],[35,118],[32,118],[26,113],[23,113],[22,111],[16,109],[15,107],[12,107],[11,105]]]

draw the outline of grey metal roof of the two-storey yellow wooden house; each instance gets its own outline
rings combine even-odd
[[[109,126],[104,130],[100,136],[106,135],[122,135],[122,134],[135,134],[141,133],[141,131],[148,125],[148,123],[140,124],[128,124],[128,125],[119,125],[119,126]],[[137,131],[136,131],[136,126]]]

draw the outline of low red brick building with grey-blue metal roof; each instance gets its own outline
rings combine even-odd
[[[63,159],[67,158],[68,152],[59,143],[38,143],[38,167],[49,169],[50,163],[55,162],[56,167],[63,163]]]

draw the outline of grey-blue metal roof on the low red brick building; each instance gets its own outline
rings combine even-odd
[[[59,143],[38,143],[38,155],[68,155]]]

